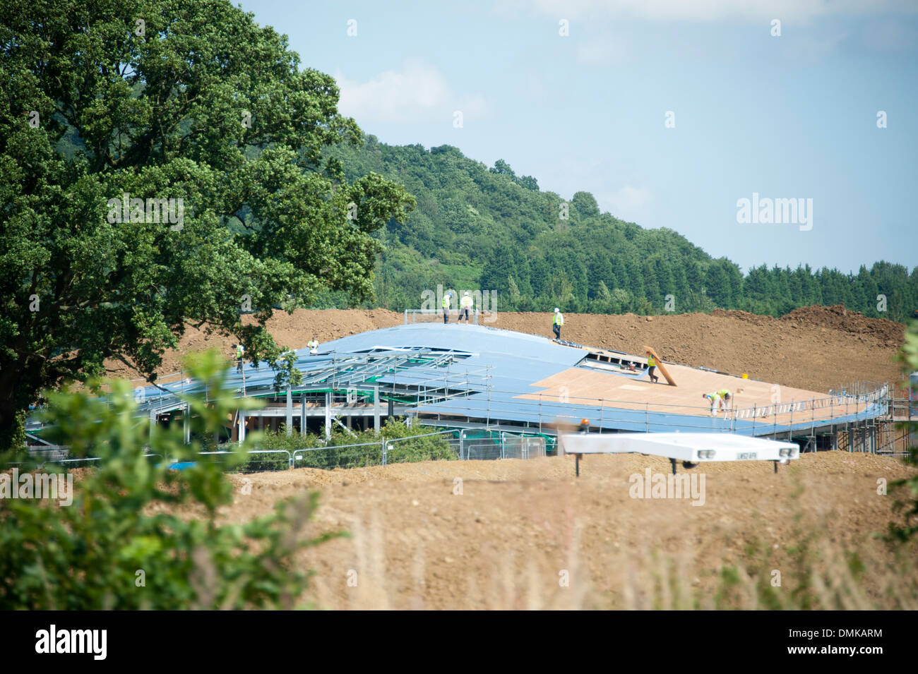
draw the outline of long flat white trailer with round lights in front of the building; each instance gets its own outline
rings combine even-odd
[[[676,462],[694,468],[708,461],[774,461],[800,459],[796,442],[766,440],[761,437],[736,436],[731,433],[565,433],[559,437],[565,454],[649,454],[666,457],[676,472]]]

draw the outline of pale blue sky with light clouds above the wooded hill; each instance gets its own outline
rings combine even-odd
[[[383,142],[506,160],[744,271],[918,265],[918,2],[241,6],[334,75],[341,112]],[[812,199],[812,228],[738,223],[753,193]]]

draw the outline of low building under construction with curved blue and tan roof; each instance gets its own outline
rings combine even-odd
[[[792,439],[801,450],[893,453],[907,438],[893,431],[918,411],[896,404],[889,385],[813,392],[725,372],[661,361],[650,381],[646,359],[621,351],[478,325],[413,324],[342,337],[297,351],[302,384],[274,388],[274,370],[230,370],[236,394],[262,409],[227,420],[224,440],[253,430],[330,436],[335,425],[379,429],[387,416],[414,425],[555,436],[587,419],[590,432],[723,432]],[[180,392],[203,392],[183,377],[147,387],[140,409],[151,423],[182,423]],[[711,409],[701,394],[733,392]]]

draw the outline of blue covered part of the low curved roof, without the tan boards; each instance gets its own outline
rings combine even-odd
[[[319,346],[317,354],[310,354],[308,348],[297,349],[296,353],[297,369],[306,381],[303,390],[366,390],[380,384],[397,396],[419,392],[419,402],[413,410],[421,415],[540,426],[554,420],[570,423],[588,418],[591,424],[627,431],[732,430],[744,435],[767,432],[762,424],[756,427],[754,422],[737,420],[731,425],[722,416],[668,414],[603,407],[600,403],[591,406],[590,401],[562,402],[548,395],[538,400],[522,399],[521,395],[543,390],[534,382],[577,366],[587,358],[588,351],[563,346],[546,337],[489,326],[427,323],[388,327],[326,342]],[[609,370],[607,374],[628,379],[646,377],[640,371],[635,375]],[[274,370],[265,363],[259,370],[247,364],[244,377],[248,395],[273,394]],[[243,375],[235,367],[229,368],[228,381],[241,395]],[[140,409],[151,414],[177,409],[184,403],[175,393],[200,392],[203,385],[185,381],[163,388],[166,392],[148,387]],[[871,409],[860,416],[876,414],[878,411]],[[850,420],[855,421],[857,416],[852,415]],[[844,420],[835,420],[841,421]],[[772,430],[789,429],[778,425]]]

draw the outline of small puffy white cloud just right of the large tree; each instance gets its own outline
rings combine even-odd
[[[423,61],[406,61],[401,71],[380,72],[368,82],[335,73],[341,87],[338,109],[361,122],[421,122],[452,124],[453,112],[465,118],[483,116],[487,102],[481,94],[456,94],[436,68]]]

